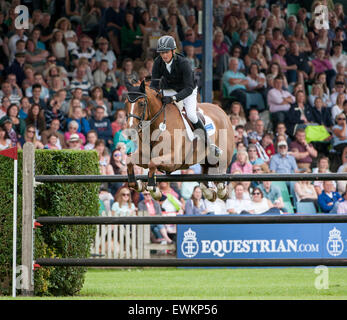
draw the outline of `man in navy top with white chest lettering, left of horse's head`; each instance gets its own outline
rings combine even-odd
[[[98,134],[98,138],[105,141],[106,146],[111,147],[112,141],[112,128],[111,123],[105,116],[105,109],[103,106],[97,106],[95,108],[94,116],[89,120],[90,129],[95,130]]]

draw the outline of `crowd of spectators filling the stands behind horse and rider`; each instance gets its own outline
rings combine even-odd
[[[96,150],[101,174],[126,174],[125,84],[151,75],[166,34],[200,79],[203,1],[27,0],[29,29],[15,26],[19,4],[0,0],[0,149],[30,141],[38,149]],[[315,24],[318,5],[328,8],[329,29]],[[213,1],[214,102],[235,132],[229,173],[347,172],[345,12],[332,0]],[[199,172],[195,165],[182,173]],[[302,202],[317,212],[346,211],[345,181],[230,183],[229,199],[213,203],[198,183],[159,188],[159,204],[117,183],[100,199],[111,200],[116,215],[284,213]],[[170,228],[152,231],[170,242]]]

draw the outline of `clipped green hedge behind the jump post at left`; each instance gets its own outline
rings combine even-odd
[[[95,151],[37,150],[36,175],[99,174]],[[0,295],[12,286],[13,163],[0,156]],[[22,152],[18,153],[17,265],[21,263]],[[35,190],[35,216],[98,215],[99,184],[46,183]],[[35,258],[85,258],[95,237],[95,226],[44,226],[35,229]],[[74,295],[84,282],[86,268],[49,267],[35,271],[35,295]]]

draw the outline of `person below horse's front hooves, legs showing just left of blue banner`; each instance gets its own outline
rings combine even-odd
[[[144,191],[142,194],[144,199],[138,203],[138,210],[147,211],[149,216],[161,216],[160,204],[152,199],[149,191]],[[173,242],[168,236],[166,228],[163,224],[151,224],[151,236],[152,235],[152,242],[160,242],[162,244],[170,244]]]

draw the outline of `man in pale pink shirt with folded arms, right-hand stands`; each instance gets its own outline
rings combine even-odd
[[[277,76],[274,80],[274,87],[267,94],[269,110],[275,126],[278,122],[285,121],[286,112],[289,111],[290,105],[295,102],[295,97],[282,88],[283,78]]]

